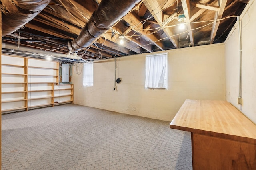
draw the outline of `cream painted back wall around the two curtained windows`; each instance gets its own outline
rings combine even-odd
[[[117,60],[117,78],[122,82],[116,91],[114,60],[94,63],[93,87],[83,87],[82,74],[76,74],[74,66],[74,103],[171,121],[186,99],[225,100],[223,43],[165,52],[168,90],[145,89],[145,54],[133,55]]]

